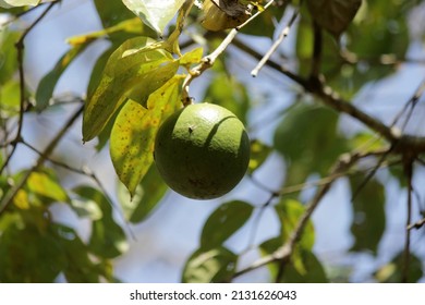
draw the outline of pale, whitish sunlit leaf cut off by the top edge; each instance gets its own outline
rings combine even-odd
[[[122,0],[144,23],[162,34],[185,0]]]

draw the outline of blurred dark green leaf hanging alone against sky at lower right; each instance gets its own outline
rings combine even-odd
[[[376,255],[386,225],[385,187],[376,179],[364,184],[365,179],[365,175],[350,178],[351,192],[355,195],[351,225],[355,242],[351,251],[371,251]]]

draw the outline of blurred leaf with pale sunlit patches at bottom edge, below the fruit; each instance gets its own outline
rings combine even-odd
[[[235,272],[238,256],[224,247],[196,251],[184,266],[184,283],[230,282]]]

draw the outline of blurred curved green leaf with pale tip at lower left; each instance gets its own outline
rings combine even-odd
[[[89,249],[105,258],[113,258],[123,254],[129,245],[124,231],[113,219],[110,200],[101,192],[89,186],[80,186],[73,191],[81,198],[97,203],[102,213],[100,219],[92,223]]]

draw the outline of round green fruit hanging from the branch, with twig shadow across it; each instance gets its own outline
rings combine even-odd
[[[165,182],[194,199],[230,192],[250,162],[250,138],[231,111],[195,103],[174,112],[159,127],[155,162]]]

